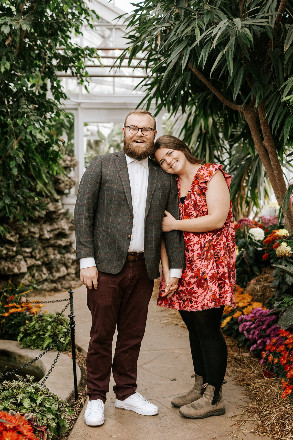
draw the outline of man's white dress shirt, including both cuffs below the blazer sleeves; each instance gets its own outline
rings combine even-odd
[[[148,158],[142,161],[129,158],[126,154],[133,208],[133,228],[128,252],[144,252],[145,205],[148,192]],[[80,268],[95,266],[93,257],[80,258]],[[170,269],[170,276],[180,278],[182,269]]]

